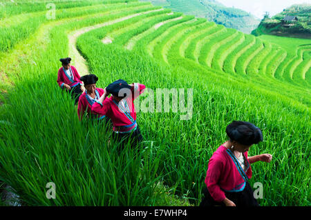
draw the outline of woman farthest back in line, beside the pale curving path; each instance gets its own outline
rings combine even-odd
[[[60,88],[70,91],[71,97],[77,104],[80,94],[84,92],[80,75],[74,66],[70,66],[70,57],[59,59],[59,61],[62,62],[62,67],[58,70],[57,83]]]

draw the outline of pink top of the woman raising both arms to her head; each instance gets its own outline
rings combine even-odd
[[[106,115],[113,123],[113,131],[127,133],[137,128],[134,100],[144,92],[146,86],[134,83],[131,88],[131,97],[126,97],[117,102],[113,97],[104,99],[102,103],[95,102],[92,111]]]

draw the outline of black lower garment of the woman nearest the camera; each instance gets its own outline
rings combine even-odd
[[[204,198],[202,199],[200,206],[225,206],[223,202],[216,202],[209,194],[209,190],[205,187],[203,190]],[[259,206],[257,200],[254,198],[254,192],[246,182],[245,188],[241,192],[225,192],[227,199],[233,201],[236,206]]]

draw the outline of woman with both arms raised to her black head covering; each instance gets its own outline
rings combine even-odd
[[[142,134],[136,122],[134,99],[142,94],[145,88],[146,86],[142,84],[129,85],[119,79],[109,84],[104,89],[104,94],[93,104],[91,109],[93,112],[111,119],[114,139],[121,142],[131,139],[135,146],[142,141]],[[109,94],[112,96],[107,98]]]

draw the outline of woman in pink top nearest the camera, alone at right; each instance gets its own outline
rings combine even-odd
[[[258,206],[247,182],[252,177],[251,163],[270,162],[271,154],[247,157],[249,147],[263,141],[259,128],[245,121],[233,121],[226,128],[229,141],[209,159],[200,206]]]

